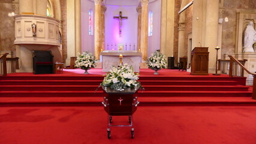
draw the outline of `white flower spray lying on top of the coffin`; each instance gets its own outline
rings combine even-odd
[[[106,74],[100,86],[104,88],[110,87],[111,89],[123,91],[125,88],[141,88],[141,83],[137,80],[139,75],[134,73],[132,66],[128,64],[118,65]]]

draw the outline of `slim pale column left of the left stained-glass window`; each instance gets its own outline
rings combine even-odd
[[[75,0],[75,55],[81,53],[81,1]]]

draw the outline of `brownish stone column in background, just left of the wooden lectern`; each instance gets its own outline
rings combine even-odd
[[[178,23],[178,58],[184,56],[185,27],[184,23]],[[178,59],[179,60],[179,59]]]

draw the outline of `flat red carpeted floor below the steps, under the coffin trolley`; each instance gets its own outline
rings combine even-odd
[[[103,107],[1,107],[1,144],[254,144],[255,106],[139,106],[130,128],[106,135]],[[127,118],[113,117],[123,122]]]

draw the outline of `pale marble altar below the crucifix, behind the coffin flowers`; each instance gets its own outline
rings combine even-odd
[[[100,52],[100,61],[102,62],[102,71],[108,72],[112,66],[117,66],[120,62],[119,56],[123,55],[123,64],[132,65],[135,72],[139,72],[139,63],[141,62],[141,53],[136,50],[118,51],[105,50]]]

